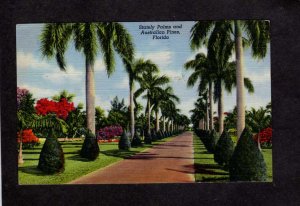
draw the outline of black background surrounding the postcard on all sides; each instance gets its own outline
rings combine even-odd
[[[300,1],[5,0],[0,5],[3,205],[300,205]],[[18,185],[16,24],[216,19],[271,21],[273,183]]]

